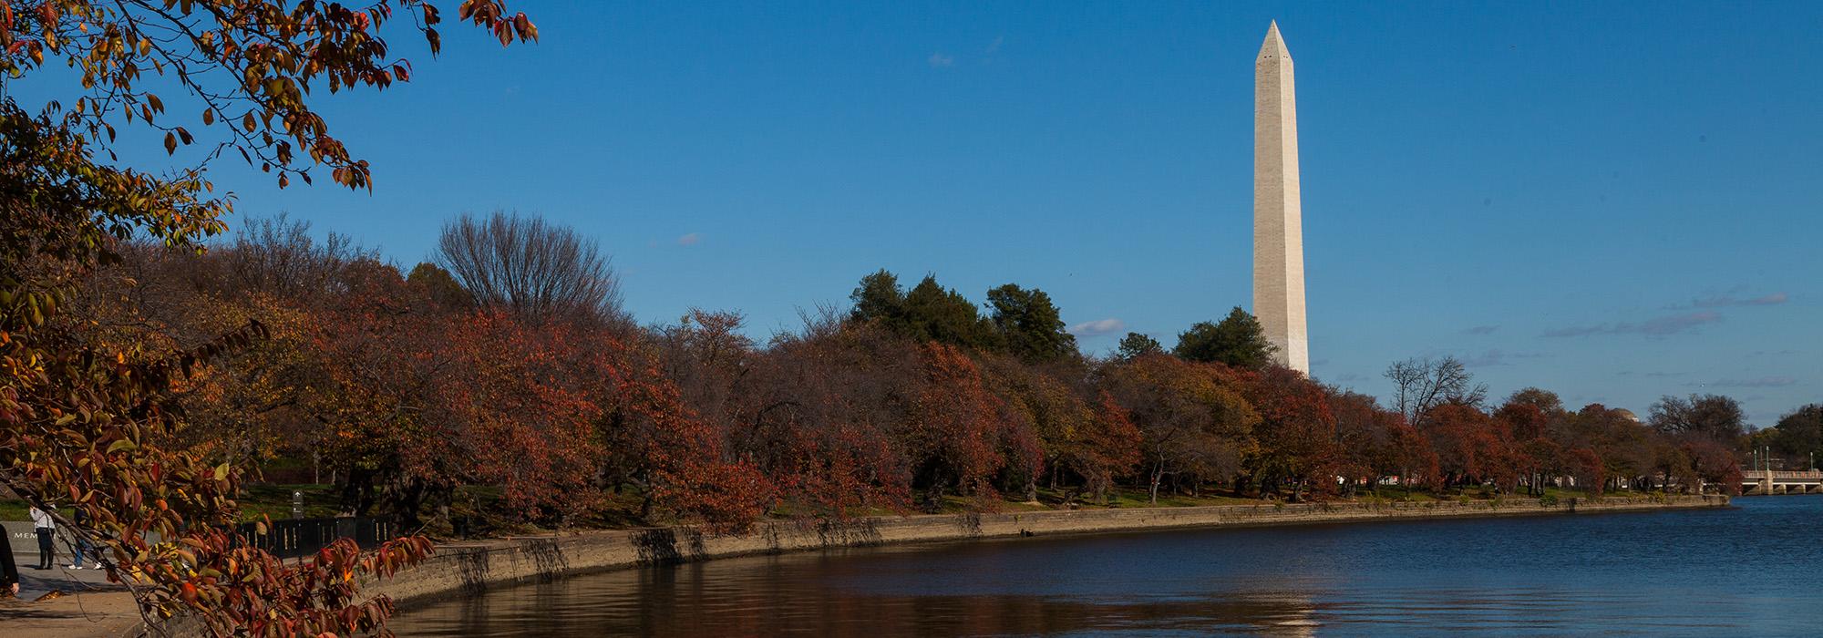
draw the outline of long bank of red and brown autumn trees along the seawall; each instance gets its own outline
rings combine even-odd
[[[1043,290],[1004,284],[975,306],[884,270],[850,308],[764,343],[735,312],[640,326],[592,242],[514,213],[448,222],[410,270],[284,217],[208,253],[124,255],[75,301],[95,339],[264,332],[186,379],[180,445],[239,467],[312,459],[348,514],[434,529],[452,507],[735,530],[1041,492],[1107,503],[1117,487],[1154,501],[1694,492],[1732,489],[1748,445],[1726,397],[1666,397],[1648,419],[1539,388],[1491,403],[1449,357],[1391,365],[1382,405],[1272,365],[1240,308],[1170,350],[1128,334],[1085,355]]]

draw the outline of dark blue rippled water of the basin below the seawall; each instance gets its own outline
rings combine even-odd
[[[1823,496],[844,549],[414,607],[399,636],[1823,633]]]

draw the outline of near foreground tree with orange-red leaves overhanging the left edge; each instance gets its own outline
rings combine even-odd
[[[47,80],[36,108],[0,98],[0,481],[33,503],[62,498],[82,509],[86,523],[62,527],[106,547],[109,578],[151,616],[188,611],[213,634],[383,633],[390,602],[357,598],[350,576],[386,574],[428,552],[421,538],[370,556],[339,541],[281,563],[213,527],[235,520],[239,470],[168,445],[182,423],[171,392],[263,339],[263,324],[171,352],[89,341],[58,312],[98,266],[118,262],[120,242],[139,235],[197,252],[226,228],[230,201],[202,168],[151,175],[124,166],[117,157],[135,155],[124,144],[144,135],[118,128],[142,126],[168,153],[213,142],[210,157],[239,155],[279,186],[326,168],[337,184],[370,188],[368,164],[330,135],[314,109],[323,93],[310,89],[403,82],[410,64],[379,36],[394,7],[434,53],[439,13],[417,0],[366,11],[22,0],[0,13],[0,73]],[[536,36],[498,0],[467,0],[458,15],[501,44]],[[221,133],[191,131],[197,120],[170,115],[168,100]],[[149,543],[153,532],[164,541]]]

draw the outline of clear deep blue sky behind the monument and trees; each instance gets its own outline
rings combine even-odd
[[[543,42],[452,24],[432,60],[397,31],[410,84],[323,102],[372,195],[213,177],[407,266],[456,213],[541,213],[649,323],[766,335],[890,268],[1169,346],[1251,301],[1276,18],[1318,379],[1384,396],[1387,363],[1455,354],[1497,396],[1823,401],[1823,4],[512,5]]]

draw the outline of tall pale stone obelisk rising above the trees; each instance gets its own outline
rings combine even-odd
[[[1274,20],[1254,60],[1254,317],[1287,368],[1311,374],[1303,328],[1303,204],[1291,51]]]

